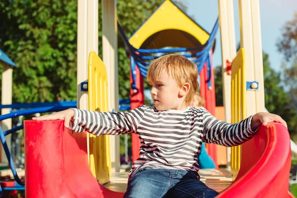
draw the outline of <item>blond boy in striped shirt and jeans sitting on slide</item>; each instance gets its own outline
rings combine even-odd
[[[276,121],[286,126],[286,122],[261,112],[228,124],[202,108],[188,107],[198,89],[197,77],[193,62],[181,55],[165,55],[148,69],[153,107],[143,105],[127,113],[72,108],[33,120],[63,119],[74,132],[97,136],[137,134],[140,157],[129,172],[125,198],[212,198],[218,193],[199,181],[202,142],[237,146],[251,139],[261,124]]]

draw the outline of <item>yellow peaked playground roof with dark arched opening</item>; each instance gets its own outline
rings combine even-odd
[[[136,49],[163,47],[197,47],[205,44],[209,34],[171,0],[151,14],[129,39]]]

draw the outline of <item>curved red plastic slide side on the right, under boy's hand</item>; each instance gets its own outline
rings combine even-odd
[[[281,124],[261,126],[243,145],[236,180],[218,198],[291,198],[289,173],[291,147],[288,130]]]

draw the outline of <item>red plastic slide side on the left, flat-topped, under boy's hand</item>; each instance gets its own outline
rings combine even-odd
[[[85,133],[63,121],[24,121],[26,198],[122,198],[93,177]]]

